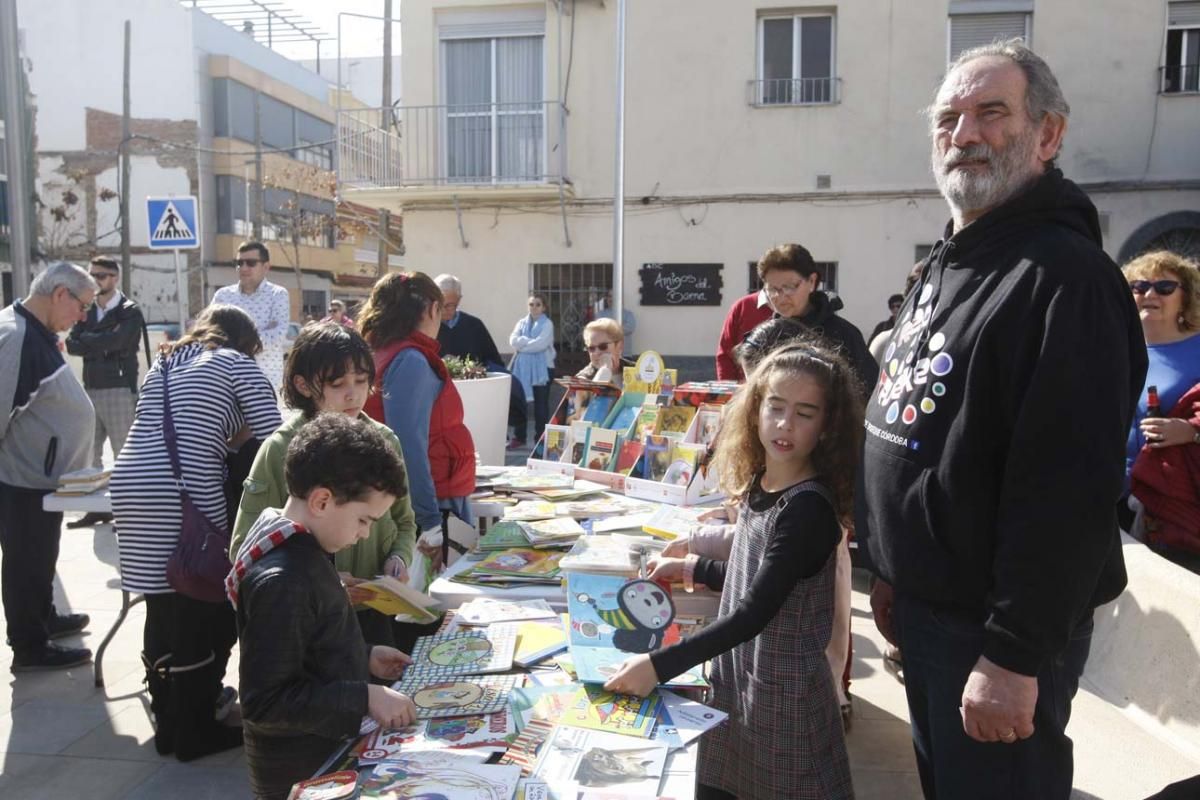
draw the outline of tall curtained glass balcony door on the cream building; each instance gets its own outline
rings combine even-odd
[[[545,169],[544,36],[443,40],[443,169],[463,182],[536,181]]]

